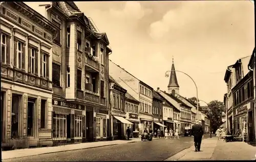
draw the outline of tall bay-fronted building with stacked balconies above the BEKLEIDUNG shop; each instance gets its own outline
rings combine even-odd
[[[54,142],[106,140],[108,37],[74,2],[40,2],[35,10],[61,28],[52,50]]]

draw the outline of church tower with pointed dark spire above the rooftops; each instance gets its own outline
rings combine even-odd
[[[177,94],[179,94],[180,86],[178,84],[176,71],[173,71],[173,70],[175,70],[174,58],[173,58],[172,71],[170,72],[170,80],[169,80],[169,84],[168,84],[168,93],[172,94],[174,96],[177,96]]]

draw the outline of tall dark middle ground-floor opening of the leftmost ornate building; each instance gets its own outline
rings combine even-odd
[[[34,136],[35,99],[28,98],[27,136]]]

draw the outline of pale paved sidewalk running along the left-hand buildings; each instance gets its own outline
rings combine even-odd
[[[158,140],[158,139],[153,139],[153,140]],[[129,141],[128,140],[101,141],[101,142],[69,144],[69,145],[53,146],[53,147],[39,147],[39,148],[27,148],[27,149],[19,149],[19,150],[11,150],[11,151],[2,151],[2,159],[26,157],[26,156],[54,153],[54,152],[80,150],[80,149],[88,149],[88,148],[111,146],[111,145],[120,145],[120,144],[134,143],[134,142],[140,142],[140,141],[141,141],[140,138],[136,138],[136,139],[130,139]]]

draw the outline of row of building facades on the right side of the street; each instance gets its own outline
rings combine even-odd
[[[224,95],[225,126],[229,134],[242,134],[244,141],[255,140],[255,51],[226,69]]]

